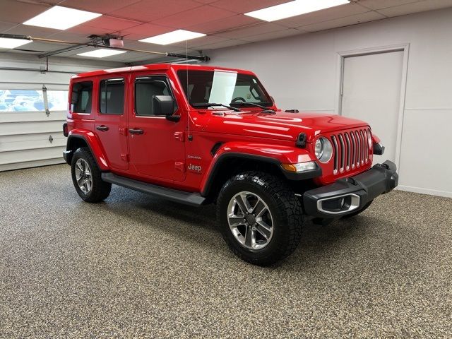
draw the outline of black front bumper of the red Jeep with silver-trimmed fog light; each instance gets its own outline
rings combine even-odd
[[[397,167],[386,160],[361,174],[303,194],[304,212],[316,218],[338,218],[354,213],[398,184]]]

